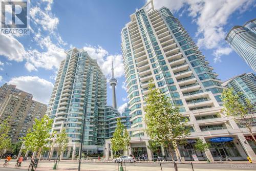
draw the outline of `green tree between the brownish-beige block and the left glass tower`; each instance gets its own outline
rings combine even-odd
[[[35,119],[32,130],[28,131],[24,137],[25,148],[36,152],[36,158],[39,157],[42,148],[48,144],[50,138],[50,130],[53,120],[45,115],[41,120]]]

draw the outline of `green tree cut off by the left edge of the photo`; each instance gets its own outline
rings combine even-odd
[[[10,131],[9,120],[10,118],[7,118],[0,124],[0,157],[1,158],[4,154],[5,149],[11,148],[11,139],[8,136],[8,133]]]

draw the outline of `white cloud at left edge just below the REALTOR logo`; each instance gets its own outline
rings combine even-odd
[[[0,33],[0,55],[9,60],[23,61],[25,54],[23,45],[16,38]]]

